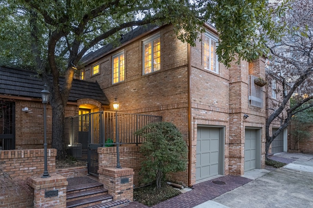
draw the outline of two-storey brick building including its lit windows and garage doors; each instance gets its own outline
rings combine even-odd
[[[173,180],[188,186],[265,165],[266,93],[254,83],[265,79],[265,59],[227,68],[217,61],[215,29],[205,29],[191,47],[171,25],[137,27],[120,46],[82,60],[81,78],[99,83],[111,104],[117,98],[120,112],[162,116],[179,128],[189,162]]]

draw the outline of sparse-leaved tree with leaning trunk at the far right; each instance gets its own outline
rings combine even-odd
[[[266,43],[270,51],[268,73],[275,74],[282,81],[280,97],[271,108],[266,120],[266,157],[272,141],[290,123],[292,116],[313,106],[313,0],[291,2],[284,16],[273,14],[275,28],[279,28],[280,39]],[[275,6],[275,5],[273,5]],[[289,101],[298,95],[291,106]],[[273,121],[279,120],[281,126],[269,134]]]

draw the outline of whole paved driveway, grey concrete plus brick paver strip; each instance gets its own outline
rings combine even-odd
[[[153,208],[307,208],[313,207],[313,155],[277,153],[271,159],[288,165],[226,175],[193,186],[191,191]],[[312,168],[312,171],[311,171]],[[311,171],[311,172],[310,172]],[[218,185],[213,181],[224,182]],[[131,202],[126,208],[148,208]]]

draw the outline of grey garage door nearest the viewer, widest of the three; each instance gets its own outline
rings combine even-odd
[[[198,127],[196,180],[219,174],[220,129]]]

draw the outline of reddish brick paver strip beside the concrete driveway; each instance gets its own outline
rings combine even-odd
[[[225,184],[218,185],[213,183],[213,181],[222,181]],[[196,184],[193,186],[191,191],[179,194],[179,196],[161,202],[153,206],[153,208],[193,208],[230,190],[243,186],[250,181],[252,180],[241,176],[225,175],[213,180]],[[128,206],[125,206],[125,208],[149,207],[138,202],[131,202]]]

